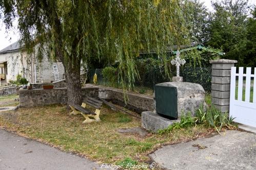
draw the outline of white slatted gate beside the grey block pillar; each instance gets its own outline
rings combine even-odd
[[[235,117],[234,122],[256,128],[256,68],[254,75],[251,68],[231,68],[230,80],[230,109],[229,116]],[[237,81],[238,77],[238,81]],[[245,81],[244,81],[245,77]]]

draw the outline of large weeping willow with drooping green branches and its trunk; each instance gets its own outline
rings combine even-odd
[[[166,51],[187,42],[184,1],[179,0],[0,0],[7,29],[18,17],[21,42],[39,60],[65,67],[68,102],[80,104],[82,63],[119,63],[119,81],[130,88],[134,59],[154,51],[167,64]],[[166,71],[168,74],[168,72]]]

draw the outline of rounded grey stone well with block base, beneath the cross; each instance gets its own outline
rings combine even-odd
[[[153,132],[157,132],[161,129],[166,129],[168,128],[168,126],[172,125],[175,122],[180,122],[180,117],[182,114],[186,114],[188,112],[191,113],[192,116],[194,116],[195,111],[197,109],[199,109],[200,105],[204,105],[204,98],[205,98],[205,91],[203,89],[203,87],[200,84],[195,84],[195,83],[187,83],[187,82],[166,82],[166,83],[160,83],[157,84],[156,86],[160,86],[161,89],[162,87],[163,90],[162,93],[157,93],[157,89],[156,89],[156,95],[159,96],[154,96],[155,102],[161,102],[161,100],[159,100],[159,98],[162,98],[164,100],[162,100],[162,104],[157,105],[154,102],[154,107],[156,107],[156,109],[154,109],[154,111],[146,111],[146,112],[142,112],[142,127],[153,131]],[[166,90],[167,88],[167,90]],[[174,88],[176,90],[176,93],[169,93],[168,88]],[[164,95],[160,95],[160,94],[164,94]],[[169,94],[173,94],[173,95],[169,95]],[[176,101],[173,101],[173,100]],[[173,101],[173,102],[171,102]],[[172,107],[173,103],[176,103],[176,107]],[[157,106],[156,106],[157,105]],[[171,106],[171,107],[169,107]],[[159,109],[159,107],[162,107]],[[163,115],[161,114],[157,114],[157,110],[165,110],[166,113],[172,113],[172,111],[174,111],[174,113],[178,114],[178,119],[175,120],[171,120],[166,114]],[[176,108],[176,109],[173,109]],[[170,110],[169,110],[170,109]],[[165,118],[168,117],[168,118]]]

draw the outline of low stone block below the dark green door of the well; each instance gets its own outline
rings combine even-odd
[[[170,120],[155,114],[152,111],[142,112],[142,127],[146,130],[157,132],[162,129],[168,128],[175,122],[180,122],[180,120]]]

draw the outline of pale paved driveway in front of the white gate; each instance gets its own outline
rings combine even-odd
[[[222,135],[167,145],[151,158],[166,169],[256,169],[256,134],[226,131]]]

